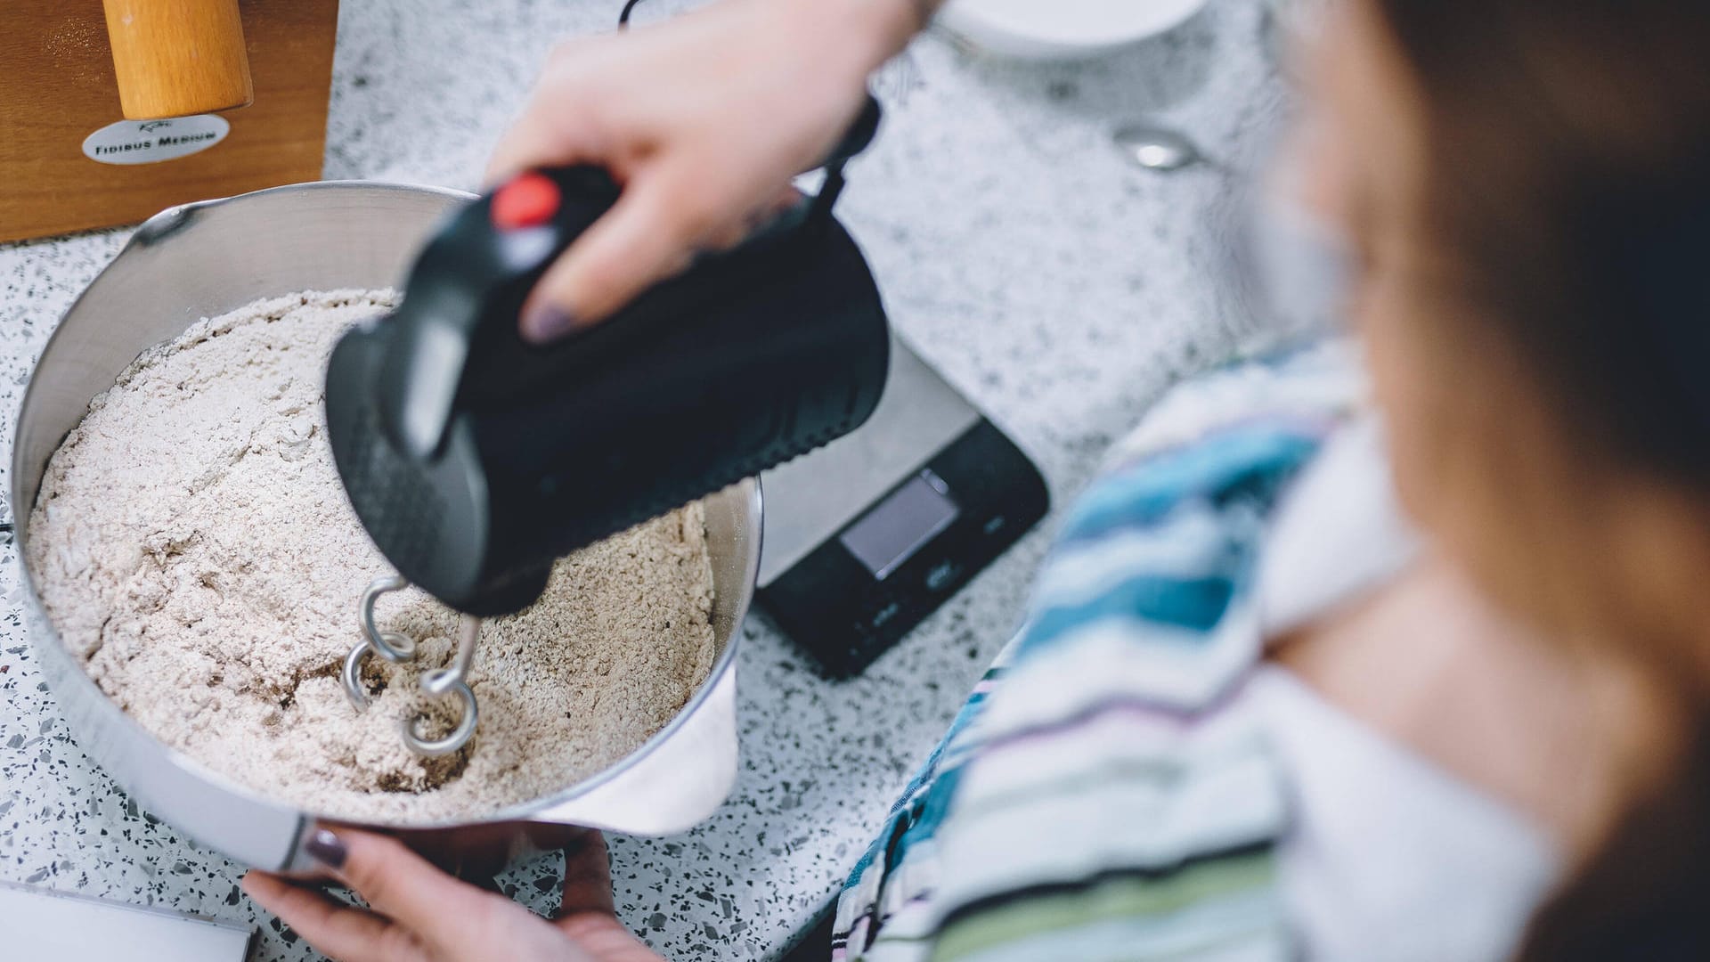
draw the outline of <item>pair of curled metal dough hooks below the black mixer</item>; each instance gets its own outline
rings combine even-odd
[[[380,625],[374,623],[374,603],[380,596],[404,591],[405,587],[409,587],[409,582],[402,577],[385,575],[369,582],[368,591],[363,592],[363,601],[359,603],[363,640],[344,657],[342,673],[344,693],[359,712],[366,710],[371,704],[368,688],[363,685],[363,662],[368,661],[368,656],[378,654],[393,664],[404,664],[416,657],[416,638],[400,632],[381,632]],[[400,722],[404,745],[426,758],[450,755],[469,745],[481,721],[481,707],[475,704],[475,693],[469,686],[469,669],[475,664],[475,642],[481,638],[481,618],[462,615],[457,633],[457,654],[451,657],[451,666],[424,671],[416,681],[424,693],[436,698],[457,695],[463,704],[457,727],[443,738],[428,738],[422,734],[428,719],[417,716]]]

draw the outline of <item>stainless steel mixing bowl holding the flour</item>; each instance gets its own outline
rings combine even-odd
[[[31,638],[79,746],[127,791],[192,839],[246,864],[306,870],[304,811],[226,779],[168,748],[125,716],[65,649],[41,608],[29,555],[29,514],[48,459],[89,401],[152,344],[198,318],[303,289],[386,288],[434,223],[469,195],[327,181],[173,207],[149,219],[48,341],[19,411],[12,505]],[[481,818],[373,825],[441,861],[484,863],[551,842],[563,827],[670,834],[711,811],[735,781],[735,649],[759,565],[759,483],[706,500],[716,656],[706,681],[662,731],[622,762],[576,784]],[[354,620],[354,613],[352,613]],[[542,644],[551,644],[544,638]],[[477,745],[479,751],[479,745]]]

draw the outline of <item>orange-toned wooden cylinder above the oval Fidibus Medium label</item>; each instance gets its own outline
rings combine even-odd
[[[238,0],[103,0],[118,99],[130,120],[255,99]]]

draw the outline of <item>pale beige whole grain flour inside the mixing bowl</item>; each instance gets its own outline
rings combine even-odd
[[[545,596],[484,623],[475,739],[421,758],[400,719],[457,616],[386,596],[416,661],[368,659],[373,704],[339,671],[357,599],[390,565],[345,502],[321,414],[339,334],[390,291],[303,293],[202,320],[96,397],[31,515],[43,603],[89,676],[168,745],[267,796],[381,822],[486,815],[610,765],[658,731],[713,661],[711,568],[689,505],[568,558]]]

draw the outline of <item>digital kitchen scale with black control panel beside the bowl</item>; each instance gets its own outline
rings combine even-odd
[[[756,599],[829,678],[860,674],[1045,517],[1045,479],[906,344],[853,433],[761,474]]]

